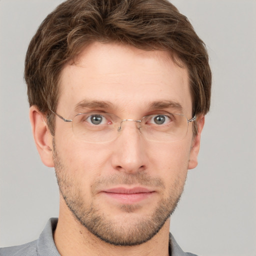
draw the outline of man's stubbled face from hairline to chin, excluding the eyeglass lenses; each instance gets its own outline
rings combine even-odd
[[[107,112],[139,120],[178,112],[192,118],[188,74],[165,51],[92,43],[62,70],[56,112]],[[174,102],[179,105],[178,110]],[[158,102],[157,104],[154,104]],[[118,245],[140,244],[164,225],[182,193],[193,151],[192,125],[178,141],[147,140],[126,121],[115,139],[85,142],[56,117],[53,160],[62,200],[80,224]],[[192,148],[192,149],[191,149]]]

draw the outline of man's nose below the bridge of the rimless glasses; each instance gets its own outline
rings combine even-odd
[[[122,121],[118,137],[113,141],[111,164],[116,170],[134,173],[146,169],[146,141],[138,129],[137,122],[126,120]]]

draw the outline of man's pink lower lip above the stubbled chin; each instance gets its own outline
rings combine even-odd
[[[139,202],[144,199],[147,199],[149,196],[153,194],[153,192],[134,193],[134,194],[104,192],[104,194],[121,203],[131,204],[131,203],[135,203],[135,202]]]

